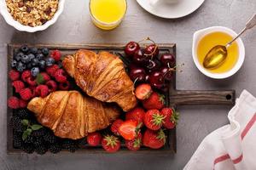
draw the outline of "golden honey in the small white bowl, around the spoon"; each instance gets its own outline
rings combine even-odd
[[[225,45],[230,42],[233,37],[229,34],[221,31],[216,31],[207,34],[202,37],[197,46],[197,56],[201,65],[203,65],[203,60],[205,59],[207,53],[216,45]],[[223,65],[220,65],[216,69],[207,70],[213,73],[224,73],[230,71],[235,65],[239,57],[239,48],[237,42],[233,42],[228,48],[228,55],[224,61]]]

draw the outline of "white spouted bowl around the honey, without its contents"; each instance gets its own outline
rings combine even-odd
[[[207,71],[207,69],[205,69],[198,60],[198,56],[197,56],[197,46],[198,43],[200,42],[202,37],[205,37],[207,34],[211,33],[211,32],[216,32],[216,31],[222,31],[225,32],[227,34],[229,34],[232,37],[236,37],[236,32],[231,30],[230,28],[224,27],[224,26],[212,26],[200,31],[195,31],[194,36],[193,36],[193,47],[192,47],[192,56],[193,56],[193,60],[195,62],[196,67],[198,68],[199,71],[201,71],[204,75],[206,75],[207,77],[212,77],[215,79],[223,79],[223,78],[227,78],[227,77],[231,77],[232,75],[234,75],[237,71],[239,71],[239,69],[241,68],[241,65],[243,64],[244,58],[245,58],[245,48],[244,48],[244,44],[241,41],[241,38],[237,38],[236,42],[238,44],[238,49],[239,49],[239,56],[238,56],[238,60],[236,62],[236,65],[234,65],[234,67],[230,70],[230,71],[226,71],[224,73],[212,73],[210,71]]]

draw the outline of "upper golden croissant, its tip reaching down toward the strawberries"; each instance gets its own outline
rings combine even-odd
[[[62,64],[77,85],[91,97],[103,102],[115,102],[123,111],[130,111],[137,105],[133,82],[118,56],[80,49],[73,56],[67,56]]]

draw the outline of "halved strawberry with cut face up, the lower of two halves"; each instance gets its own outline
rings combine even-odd
[[[135,139],[138,130],[138,122],[134,120],[127,120],[119,126],[119,134],[126,140]]]

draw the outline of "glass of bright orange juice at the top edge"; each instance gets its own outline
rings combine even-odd
[[[125,17],[126,0],[90,0],[90,16],[93,23],[102,30],[112,30]]]

